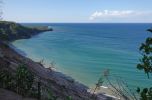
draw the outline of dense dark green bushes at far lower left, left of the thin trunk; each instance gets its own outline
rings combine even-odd
[[[1,88],[27,96],[26,94],[32,91],[33,81],[34,75],[25,65],[19,65],[15,74],[9,72],[8,69],[0,69]]]

